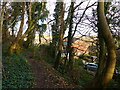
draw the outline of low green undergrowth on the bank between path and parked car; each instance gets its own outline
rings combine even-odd
[[[73,61],[73,69],[71,71],[68,71],[67,67],[62,63],[58,66],[57,71],[59,71],[65,79],[78,85],[78,87],[85,86],[94,76],[83,68],[82,59],[74,59]]]

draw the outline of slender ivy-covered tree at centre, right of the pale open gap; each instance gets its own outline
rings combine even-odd
[[[59,31],[60,31],[60,28],[59,28],[59,25],[60,25],[60,22],[59,22],[59,19],[60,19],[60,2],[56,2],[56,6],[55,6],[55,9],[54,9],[54,21],[53,21],[53,25],[52,25],[52,47],[54,48],[53,51],[52,51],[52,57],[55,59],[56,58],[56,55],[57,55],[57,46],[58,46],[58,40],[59,40]]]

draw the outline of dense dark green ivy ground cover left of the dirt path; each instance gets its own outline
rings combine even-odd
[[[3,88],[30,88],[34,83],[28,61],[22,55],[11,54],[3,57]],[[6,76],[6,78],[4,77]]]

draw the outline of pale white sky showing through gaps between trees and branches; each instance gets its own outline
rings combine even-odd
[[[10,0],[9,0],[10,1]],[[17,0],[16,0],[17,1]],[[26,0],[25,0],[26,1]],[[39,0],[39,1],[41,1],[41,0]],[[69,5],[70,5],[70,1],[71,0],[64,0],[65,1],[65,4],[66,4],[66,7],[68,7]],[[86,7],[86,5],[87,5],[87,3],[88,3],[88,0],[76,0],[76,3],[75,3],[75,6],[76,5],[78,5],[81,1],[85,1],[82,5],[81,5],[81,8],[85,8]],[[89,0],[90,1],[90,4],[92,4],[92,3],[94,3],[96,0]],[[113,0],[113,1],[115,1],[115,0]],[[116,0],[117,1],[117,0]],[[55,8],[55,2],[56,2],[56,0],[47,0],[47,9],[49,10],[49,16],[48,16],[48,18],[49,19],[47,19],[47,21],[46,21],[46,23],[51,19],[53,19],[53,13],[54,13],[54,8]],[[94,8],[96,8],[96,7],[94,7]],[[83,11],[82,10],[80,10],[80,11],[78,11],[79,13],[82,13]],[[92,9],[90,8],[90,9],[88,9],[87,11],[86,11],[86,14],[87,15],[89,15],[89,16],[91,16],[92,14]],[[65,18],[67,17],[67,14],[65,14]],[[27,22],[27,15],[25,15],[25,23]],[[86,22],[86,23],[88,23],[88,21],[84,21],[84,22]],[[20,26],[20,22],[18,22],[18,25],[16,26],[16,30],[18,30],[19,29],[19,26]],[[24,25],[24,32],[25,32],[25,30],[27,29],[27,24],[25,24]],[[91,31],[91,29],[92,28],[90,28],[90,27],[88,27],[88,26],[82,26],[82,28],[80,28],[80,27],[78,27],[78,29],[80,29],[80,33],[82,33],[82,34],[85,34],[86,32],[85,31]],[[51,30],[51,26],[50,25],[48,25],[48,27],[47,27],[47,31],[45,32],[45,34],[50,34],[51,35],[51,32],[50,32],[50,30]],[[23,32],[23,33],[24,33]],[[68,30],[66,30],[66,32],[65,32],[65,37],[67,36],[67,33],[68,33]],[[90,33],[91,35],[97,35],[96,33],[94,33],[94,32],[91,32]],[[81,36],[80,34],[79,34],[79,32],[76,32],[76,34],[75,34],[75,36]]]

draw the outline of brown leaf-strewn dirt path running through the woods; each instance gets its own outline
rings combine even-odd
[[[35,74],[35,85],[33,88],[74,88],[74,85],[68,84],[63,77],[53,75],[55,70],[48,67],[47,63],[42,60],[35,60],[26,57],[29,61],[32,71]]]

